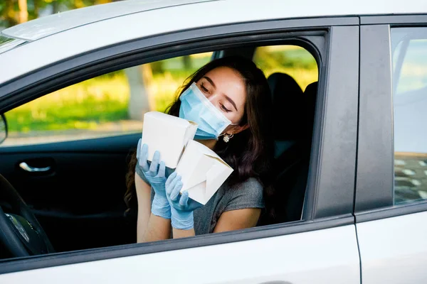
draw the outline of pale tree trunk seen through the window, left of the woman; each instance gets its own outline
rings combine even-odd
[[[148,67],[147,67],[148,66]],[[149,100],[149,82],[152,80],[151,68],[148,64],[125,69],[129,82],[130,99],[127,107],[129,119],[142,120],[144,114],[151,109]]]

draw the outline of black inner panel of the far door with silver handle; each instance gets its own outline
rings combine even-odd
[[[125,218],[123,196],[127,155],[137,139],[123,135],[1,146],[0,171],[31,206],[56,251],[130,244],[135,226]],[[109,232],[109,226],[127,234]],[[100,241],[97,234],[106,237]]]

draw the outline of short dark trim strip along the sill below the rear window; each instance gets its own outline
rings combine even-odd
[[[408,202],[407,204],[399,204],[394,207],[383,207],[380,209],[359,212],[355,214],[355,217],[357,223],[362,223],[426,211],[427,200],[422,200],[417,202]]]

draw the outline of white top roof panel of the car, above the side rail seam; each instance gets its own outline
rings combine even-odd
[[[300,0],[292,2],[292,4],[289,4],[288,1],[282,0],[125,0],[88,6],[85,8],[74,9],[63,13],[57,13],[55,15],[37,18],[33,21],[28,21],[11,28],[7,28],[2,31],[2,33],[4,35],[9,35],[11,37],[27,41],[37,40],[71,28],[77,28],[79,26],[85,26],[90,23],[119,16],[126,16],[131,13],[153,11],[157,9],[171,9],[175,6],[197,5],[204,2],[218,3],[215,4],[214,7],[216,7],[216,9],[214,9],[214,11],[204,11],[201,9],[200,13],[218,13],[218,16],[223,16],[221,12],[230,9],[234,10],[235,13],[257,11],[260,18],[268,18],[268,14],[276,14],[274,10],[280,11],[283,18],[427,12],[427,1],[423,0]]]

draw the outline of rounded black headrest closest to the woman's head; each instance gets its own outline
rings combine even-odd
[[[301,123],[305,118],[302,89],[288,74],[273,73],[268,77],[273,100],[275,141],[297,140],[303,135]]]

